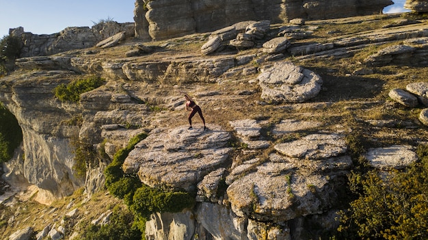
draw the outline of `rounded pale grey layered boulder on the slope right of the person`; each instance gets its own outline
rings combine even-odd
[[[319,75],[291,62],[278,62],[257,77],[262,98],[274,103],[302,103],[321,91]]]

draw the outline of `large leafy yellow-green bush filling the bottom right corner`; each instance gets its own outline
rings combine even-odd
[[[341,239],[428,239],[428,146],[417,153],[420,161],[402,172],[349,175],[358,198],[340,213]]]

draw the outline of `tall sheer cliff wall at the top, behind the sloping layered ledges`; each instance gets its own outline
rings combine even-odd
[[[147,12],[141,10],[146,4]],[[148,21],[148,33],[154,40],[185,36],[196,32],[213,31],[241,21],[269,20],[272,23],[284,23],[294,18],[308,20],[361,16],[382,12],[392,5],[390,0],[382,1],[137,1],[134,18],[136,29],[144,32]],[[179,14],[178,14],[179,13]],[[144,36],[144,34],[141,34]]]

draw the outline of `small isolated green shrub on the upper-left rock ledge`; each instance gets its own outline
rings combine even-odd
[[[55,96],[61,101],[78,102],[80,94],[94,90],[103,85],[104,79],[97,76],[90,76],[85,79],[77,79],[66,84],[58,85],[53,92]]]

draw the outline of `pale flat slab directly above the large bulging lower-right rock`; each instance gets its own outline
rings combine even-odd
[[[293,142],[277,144],[275,149],[289,157],[325,159],[345,153],[347,145],[343,135],[312,134]]]

